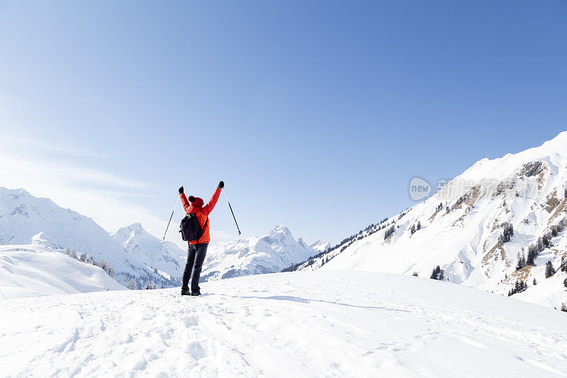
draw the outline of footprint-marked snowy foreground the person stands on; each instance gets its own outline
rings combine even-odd
[[[566,313],[432,279],[262,274],[3,301],[2,375],[561,377]],[[209,293],[209,294],[207,294]]]

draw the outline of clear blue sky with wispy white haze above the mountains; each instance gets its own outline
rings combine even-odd
[[[338,240],[567,130],[566,1],[0,1],[0,186]],[[174,217],[174,229],[181,211]],[[235,237],[221,199],[211,225]],[[177,238],[176,233],[170,234]]]

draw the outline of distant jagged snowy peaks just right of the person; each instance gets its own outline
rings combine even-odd
[[[328,243],[306,245],[289,228],[276,226],[260,238],[219,242],[209,246],[201,280],[224,279],[279,272],[325,249]]]

